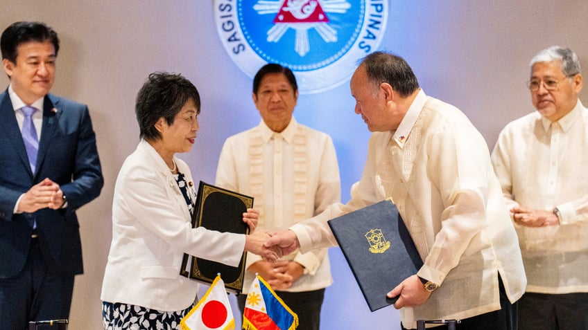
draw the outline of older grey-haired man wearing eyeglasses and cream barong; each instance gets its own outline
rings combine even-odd
[[[510,122],[492,164],[527,275],[521,329],[588,329],[588,110],[578,56],[553,46],[531,59],[537,111]]]

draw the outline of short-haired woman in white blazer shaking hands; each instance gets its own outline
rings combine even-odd
[[[114,187],[103,326],[177,329],[198,300],[198,284],[180,275],[184,253],[230,266],[239,264],[243,250],[269,260],[277,255],[263,247],[265,232],[245,236],[191,227],[192,176],[175,153],[189,152],[196,138],[196,87],[182,75],[152,73],[137,95],[135,112],[141,141]],[[257,216],[253,209],[243,214],[251,230]]]

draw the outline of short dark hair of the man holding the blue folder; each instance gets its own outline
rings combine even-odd
[[[386,82],[401,98],[406,98],[419,88],[413,69],[397,55],[381,51],[374,52],[361,59],[360,65],[365,67],[367,79],[374,86]]]

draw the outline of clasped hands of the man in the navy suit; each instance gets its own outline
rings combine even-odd
[[[59,185],[49,178],[45,178],[24,193],[19,201],[17,211],[33,213],[42,208],[58,210],[63,203],[63,192]]]

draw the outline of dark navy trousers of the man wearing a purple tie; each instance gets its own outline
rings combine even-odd
[[[74,276],[51,271],[42,257],[39,239],[33,239],[23,270],[0,279],[1,329],[28,329],[29,321],[69,318]]]

